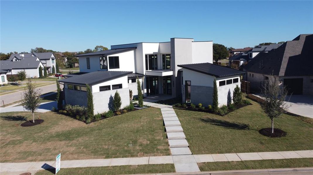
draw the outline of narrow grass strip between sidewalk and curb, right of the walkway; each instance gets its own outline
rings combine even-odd
[[[313,158],[198,163],[201,171],[312,167]]]

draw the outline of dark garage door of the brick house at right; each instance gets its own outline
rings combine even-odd
[[[302,95],[303,78],[284,79],[284,86],[288,90],[288,94]]]

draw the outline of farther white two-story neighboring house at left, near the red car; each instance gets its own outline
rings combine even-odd
[[[28,58],[37,57],[43,66],[47,67],[47,72],[52,73],[52,68],[55,69],[55,56],[52,52],[45,52],[45,53],[24,53],[24,54],[12,54],[8,61],[21,61]]]

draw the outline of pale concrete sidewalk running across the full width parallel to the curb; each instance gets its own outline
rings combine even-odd
[[[229,154],[200,154],[200,155],[178,155],[178,156],[153,156],[134,158],[108,158],[108,159],[84,159],[84,160],[61,160],[61,168],[78,167],[104,167],[121,165],[143,165],[143,164],[176,164],[185,165],[189,168],[191,160],[194,163],[202,162],[228,162],[244,160],[286,159],[286,158],[313,158],[313,150],[303,151],[280,151],[260,153],[229,153]],[[54,161],[45,162],[23,162],[23,163],[0,163],[0,172],[22,172],[38,171],[55,167]],[[178,169],[179,170],[179,169]],[[186,171],[187,172],[187,171]]]

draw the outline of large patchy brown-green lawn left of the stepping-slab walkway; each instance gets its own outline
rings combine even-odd
[[[0,113],[0,162],[33,162],[170,155],[160,109],[146,108],[85,124],[54,112],[21,127],[30,112]]]

